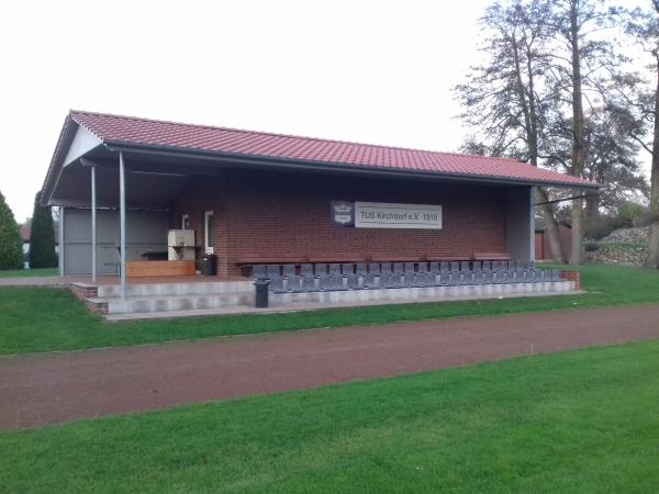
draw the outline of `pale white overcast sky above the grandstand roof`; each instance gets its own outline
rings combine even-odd
[[[456,150],[490,0],[13,1],[0,191],[32,214],[69,109]]]

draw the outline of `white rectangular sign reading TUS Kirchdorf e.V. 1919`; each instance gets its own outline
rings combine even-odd
[[[442,206],[356,202],[355,227],[442,229]]]

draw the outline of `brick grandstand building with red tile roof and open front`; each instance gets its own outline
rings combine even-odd
[[[235,276],[261,262],[529,261],[537,186],[597,187],[512,159],[71,111],[42,198],[63,209],[63,274],[120,272],[185,228],[198,268],[212,252]]]

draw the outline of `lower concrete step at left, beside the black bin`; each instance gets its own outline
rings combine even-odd
[[[107,302],[107,314],[137,314],[254,306],[254,290],[241,293],[150,295],[100,299]],[[97,299],[98,301],[99,299]],[[98,302],[97,302],[98,303]]]

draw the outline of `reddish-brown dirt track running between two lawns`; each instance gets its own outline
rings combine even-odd
[[[659,338],[659,305],[0,358],[0,428]]]

